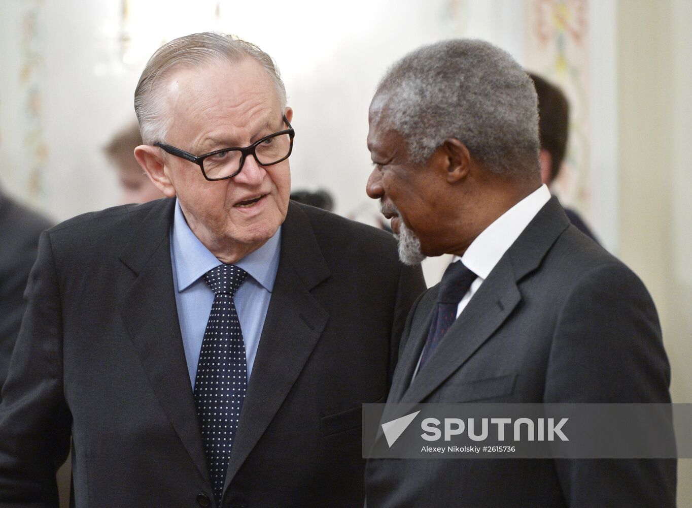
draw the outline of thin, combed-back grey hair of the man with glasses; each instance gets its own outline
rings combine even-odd
[[[233,35],[193,33],[167,42],[149,58],[134,92],[134,110],[143,142],[163,141],[168,116],[163,111],[165,95],[161,89],[173,71],[220,62],[236,63],[252,58],[266,71],[276,87],[282,111],[286,107],[286,87],[274,60],[260,48]]]

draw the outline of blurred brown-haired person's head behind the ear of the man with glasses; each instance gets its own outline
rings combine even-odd
[[[139,125],[133,122],[119,130],[104,148],[109,161],[118,172],[122,204],[146,203],[165,197],[134,158],[134,149],[141,144]]]

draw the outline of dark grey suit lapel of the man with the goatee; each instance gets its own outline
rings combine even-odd
[[[482,344],[502,325],[521,301],[518,281],[538,268],[545,254],[568,226],[569,221],[562,207],[556,198],[552,198],[538,211],[536,217],[529,222],[526,229],[495,265],[488,278],[478,288],[462,314],[441,340],[435,354],[430,357],[425,368],[417,374],[399,402],[424,401],[459,367],[462,367],[477,349],[482,347]],[[430,313],[427,319],[428,328],[434,310],[433,302],[428,311]],[[427,329],[421,326],[416,349],[409,348],[407,345],[406,353],[411,349],[410,354],[413,357],[407,360],[408,369],[412,362],[417,362],[426,336]],[[408,373],[408,378],[403,381],[410,380],[411,375],[412,369]]]

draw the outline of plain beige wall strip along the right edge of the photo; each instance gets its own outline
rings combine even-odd
[[[657,306],[673,402],[692,403],[692,4],[628,0],[618,19],[619,255]],[[692,506],[691,459],[678,505]]]

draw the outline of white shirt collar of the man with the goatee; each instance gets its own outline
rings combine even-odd
[[[541,185],[495,219],[473,240],[464,256],[454,256],[453,261],[461,259],[468,270],[481,279],[487,279],[504,253],[549,200],[550,191]]]

